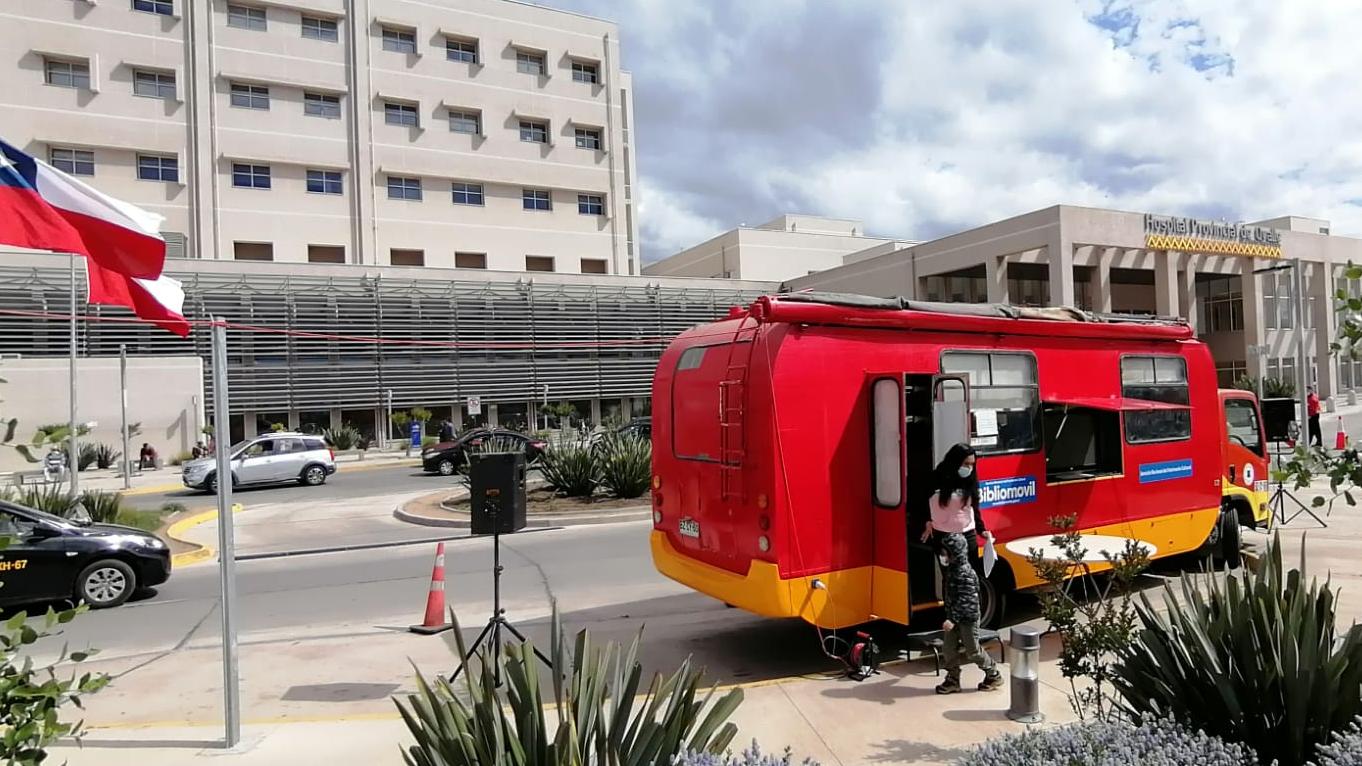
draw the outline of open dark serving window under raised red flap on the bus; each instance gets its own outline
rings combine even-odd
[[[1047,481],[1121,473],[1121,413],[1051,402],[1042,413]]]

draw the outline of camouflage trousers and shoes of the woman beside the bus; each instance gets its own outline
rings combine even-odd
[[[945,680],[937,694],[960,691],[960,664],[974,662],[983,671],[979,691],[1002,688],[1002,673],[993,657],[979,646],[979,578],[970,563],[970,544],[964,534],[948,533],[941,538],[945,549],[945,574],[941,578],[945,620],[941,623],[941,653]]]

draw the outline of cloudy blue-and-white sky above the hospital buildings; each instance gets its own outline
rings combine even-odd
[[[541,0],[620,23],[644,259],[780,213],[1056,203],[1362,234],[1348,0]]]

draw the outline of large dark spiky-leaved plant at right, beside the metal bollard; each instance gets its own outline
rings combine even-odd
[[[1302,570],[1284,572],[1273,540],[1257,572],[1186,577],[1159,608],[1141,594],[1143,630],[1115,669],[1125,707],[1305,763],[1362,713],[1362,626],[1339,635],[1333,590]]]

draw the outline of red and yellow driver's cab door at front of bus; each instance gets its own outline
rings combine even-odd
[[[1241,526],[1267,529],[1271,521],[1268,444],[1258,399],[1253,391],[1222,388],[1220,410],[1224,423],[1222,506]]]

